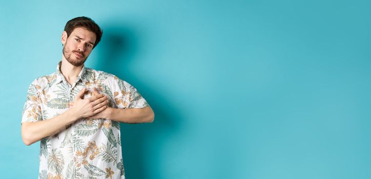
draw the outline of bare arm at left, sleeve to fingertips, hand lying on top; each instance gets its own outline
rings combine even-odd
[[[31,145],[43,138],[55,135],[55,133],[65,129],[67,125],[80,118],[89,117],[105,110],[108,103],[107,97],[98,95],[92,98],[82,99],[86,90],[85,88],[81,89],[74,100],[73,107],[65,113],[48,120],[22,123],[21,133],[23,142],[26,145]]]

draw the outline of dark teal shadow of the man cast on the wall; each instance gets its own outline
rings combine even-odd
[[[126,177],[146,179],[161,177],[163,169],[159,165],[162,161],[159,154],[167,139],[178,132],[179,121],[174,120],[180,119],[180,115],[178,109],[168,107],[175,106],[172,101],[156,94],[155,86],[141,82],[135,76],[136,70],[131,69],[131,62],[141,60],[135,57],[141,49],[136,40],[140,34],[135,32],[129,27],[106,27],[97,53],[97,67],[132,84],[154,110],[153,123],[120,124]],[[153,141],[158,142],[155,144]]]

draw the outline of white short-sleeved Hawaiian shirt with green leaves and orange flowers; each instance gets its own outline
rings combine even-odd
[[[48,120],[69,110],[78,92],[95,87],[108,96],[110,107],[143,108],[147,101],[116,76],[85,68],[69,84],[56,72],[35,79],[27,92],[22,123]],[[92,94],[88,93],[85,98]],[[40,140],[39,178],[125,178],[120,125],[108,119],[82,118],[54,136]]]

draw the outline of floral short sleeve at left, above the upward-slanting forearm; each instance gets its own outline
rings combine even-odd
[[[41,121],[41,99],[37,93],[37,88],[40,86],[36,84],[36,80],[31,83],[27,91],[26,102],[22,112],[22,122],[36,122]]]

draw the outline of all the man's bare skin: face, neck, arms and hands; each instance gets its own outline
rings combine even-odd
[[[85,28],[75,28],[70,36],[64,31],[61,42],[64,46],[60,72],[68,83],[73,84],[84,63],[93,50],[96,39],[95,33]],[[41,139],[53,136],[66,126],[80,120],[110,119],[122,123],[151,123],[154,113],[150,106],[144,108],[117,109],[109,107],[108,99],[104,94],[94,89],[91,98],[84,99],[88,90],[83,88],[73,101],[73,105],[65,113],[48,120],[22,123],[22,140],[31,145]]]

